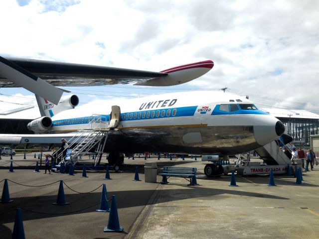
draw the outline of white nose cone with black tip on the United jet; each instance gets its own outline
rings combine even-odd
[[[285,125],[275,117],[263,117],[257,125],[254,125],[254,135],[259,145],[265,145],[282,135]]]

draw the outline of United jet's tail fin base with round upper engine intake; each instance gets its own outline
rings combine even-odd
[[[38,104],[41,117],[47,116],[51,118],[62,111],[73,109],[79,104],[79,98],[76,95],[62,97],[57,105],[54,105],[48,100],[37,95],[35,95],[35,99]]]

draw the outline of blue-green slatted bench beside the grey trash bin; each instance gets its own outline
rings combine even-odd
[[[196,168],[192,167],[163,167],[163,173],[159,175],[162,176],[161,184],[168,183],[167,178],[170,177],[181,177],[189,181],[188,186],[198,185],[196,181]]]

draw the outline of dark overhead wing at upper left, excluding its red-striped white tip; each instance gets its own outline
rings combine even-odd
[[[165,77],[167,73],[131,70],[124,68],[93,66],[64,62],[42,61],[23,58],[7,60],[45,80],[53,86],[101,86],[128,84]],[[20,87],[1,76],[0,87]]]

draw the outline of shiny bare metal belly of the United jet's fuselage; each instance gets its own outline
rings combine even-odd
[[[169,126],[110,131],[106,152],[236,154],[259,147],[253,126]]]

